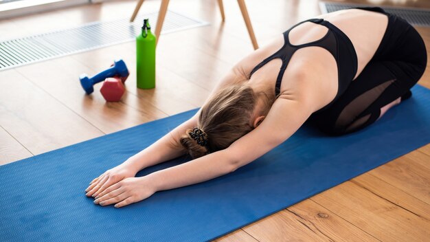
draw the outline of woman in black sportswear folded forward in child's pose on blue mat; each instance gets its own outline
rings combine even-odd
[[[240,61],[190,120],[91,181],[87,196],[118,208],[231,173],[308,118],[330,135],[363,129],[411,96],[426,64],[418,32],[381,8],[304,21]],[[185,153],[196,159],[135,177]]]

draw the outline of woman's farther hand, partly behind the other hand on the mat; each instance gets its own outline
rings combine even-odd
[[[96,197],[101,192],[116,184],[118,181],[126,179],[128,177],[135,177],[136,172],[125,166],[124,164],[120,164],[114,168],[106,170],[100,177],[97,177],[91,181],[89,187],[85,190],[87,192],[87,197]]]

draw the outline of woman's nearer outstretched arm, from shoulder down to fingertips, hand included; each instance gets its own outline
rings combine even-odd
[[[146,199],[159,190],[188,186],[231,173],[288,139],[312,112],[313,105],[305,98],[278,98],[262,124],[229,148],[144,177],[125,179],[102,192],[96,203],[102,206],[116,203],[115,207],[122,207]]]

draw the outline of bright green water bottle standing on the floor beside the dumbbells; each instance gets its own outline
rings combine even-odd
[[[155,35],[151,33],[148,19],[144,20],[142,33],[136,36],[137,88],[155,87]]]

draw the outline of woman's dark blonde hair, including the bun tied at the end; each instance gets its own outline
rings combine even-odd
[[[192,158],[227,148],[243,135],[253,130],[251,116],[257,104],[258,94],[248,85],[233,85],[218,91],[205,106],[199,116],[198,127],[207,142],[198,144],[193,130],[188,129],[180,139],[182,146]],[[270,105],[265,105],[267,113]]]

